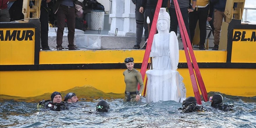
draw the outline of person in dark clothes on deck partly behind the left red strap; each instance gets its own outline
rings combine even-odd
[[[153,17],[155,14],[155,10],[157,8],[158,0],[141,0],[141,7],[139,9],[140,13],[144,13],[144,37],[145,41],[148,38],[148,27],[147,27],[147,17],[150,19],[150,28],[153,22]],[[168,0],[163,0],[161,8],[166,8]],[[147,43],[141,49],[146,49]]]

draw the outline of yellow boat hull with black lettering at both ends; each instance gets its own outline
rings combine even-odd
[[[123,94],[124,59],[134,57],[134,68],[141,68],[144,50],[40,51],[39,30],[29,23],[1,23],[1,100],[3,95],[35,97],[85,85]],[[255,31],[256,25],[237,25],[228,31],[227,51],[194,51],[208,93],[256,96]],[[187,96],[193,96],[184,50],[178,71]]]

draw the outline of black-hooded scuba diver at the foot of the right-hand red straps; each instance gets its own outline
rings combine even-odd
[[[182,110],[183,113],[191,113],[194,111],[206,111],[206,109],[203,106],[196,106],[196,104],[197,102],[195,97],[187,97],[182,103],[183,108],[179,108],[178,110]]]

